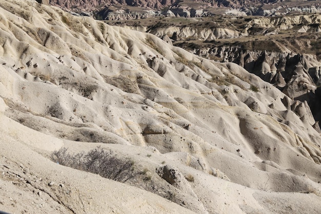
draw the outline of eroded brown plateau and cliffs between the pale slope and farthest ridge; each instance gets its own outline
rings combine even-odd
[[[314,119],[321,120],[318,14],[154,18],[106,23],[150,32],[207,59],[236,63],[291,99],[308,102]]]

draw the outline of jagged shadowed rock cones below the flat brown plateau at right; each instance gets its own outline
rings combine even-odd
[[[275,44],[278,45],[278,43]],[[299,99],[307,92],[315,91],[316,85],[319,84],[321,67],[316,56],[290,53],[285,46],[279,46],[279,49],[285,52],[246,51],[243,53],[237,47],[220,47],[199,51],[199,53],[223,57],[222,61],[226,62],[239,61],[240,66],[263,80],[276,84],[292,99]],[[307,100],[309,101],[309,98]]]

